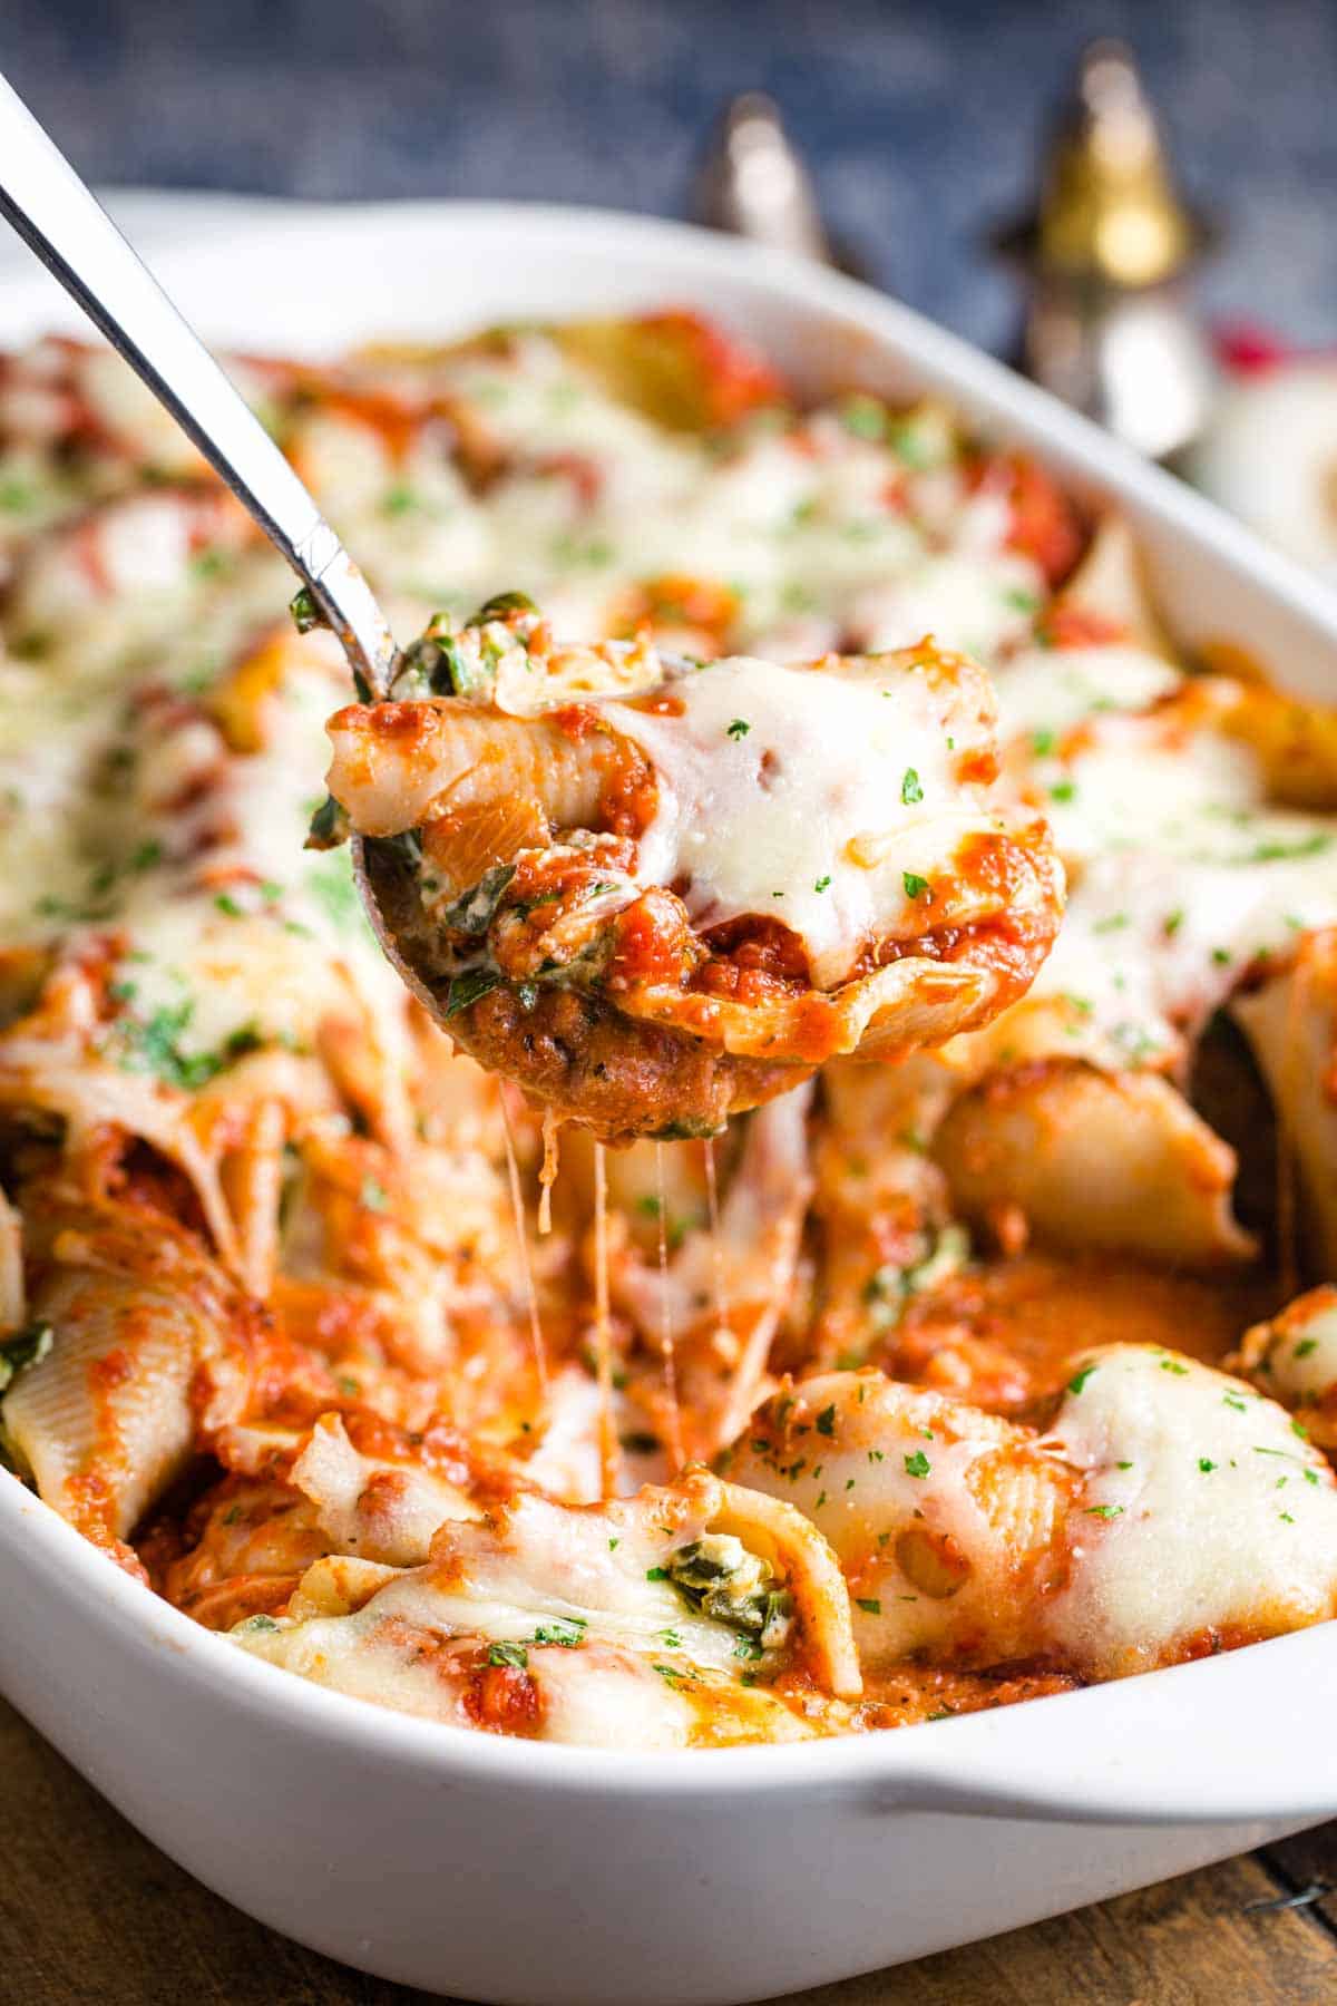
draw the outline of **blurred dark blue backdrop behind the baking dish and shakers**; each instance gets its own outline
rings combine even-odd
[[[836,231],[994,347],[980,249],[1074,52],[1127,36],[1233,223],[1219,311],[1337,339],[1337,8],[1319,0],[4,0],[0,60],[102,183],[682,213],[720,100],[772,90]]]

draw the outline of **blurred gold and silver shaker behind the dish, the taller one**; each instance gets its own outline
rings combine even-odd
[[[1030,285],[1026,375],[1153,459],[1179,453],[1217,395],[1191,297],[1211,239],[1175,183],[1133,52],[1092,42],[1034,215],[994,237]]]

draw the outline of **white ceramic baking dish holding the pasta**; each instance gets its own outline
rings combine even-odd
[[[130,211],[220,345],[696,305],[808,387],[934,387],[1137,522],[1189,644],[1337,694],[1337,598],[996,363],[846,279],[676,225],[487,205]],[[40,277],[0,341],[76,327]],[[433,1727],[245,1657],[0,1480],[0,1685],[210,1888],[349,1964],[541,2006],[792,1992],[1337,1813],[1337,1627],[878,1737],[591,1753]],[[70,1833],[78,1844],[78,1833]]]

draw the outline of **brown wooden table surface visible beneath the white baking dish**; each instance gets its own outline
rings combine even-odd
[[[174,1868],[0,1703],[0,2000],[411,2006]],[[1333,1894],[1327,1890],[1333,1888]],[[1265,1854],[782,2006],[1319,2006],[1337,2000],[1337,1823]]]

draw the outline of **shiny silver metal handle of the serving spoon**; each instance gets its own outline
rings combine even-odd
[[[166,405],[313,592],[375,692],[395,656],[363,574],[198,335],[0,76],[0,215]]]

